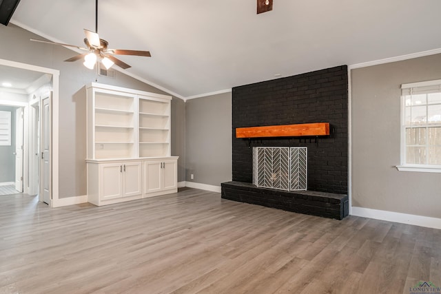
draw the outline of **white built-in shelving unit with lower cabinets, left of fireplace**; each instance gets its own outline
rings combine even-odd
[[[100,83],[86,85],[86,92],[89,202],[103,205],[175,193],[172,97]]]

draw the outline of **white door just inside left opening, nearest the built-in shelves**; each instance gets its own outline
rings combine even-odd
[[[50,204],[51,200],[51,168],[50,168],[50,146],[51,146],[51,136],[50,136],[50,125],[51,125],[51,97],[52,92],[41,98],[41,173],[40,173],[40,193],[43,195],[43,202]]]

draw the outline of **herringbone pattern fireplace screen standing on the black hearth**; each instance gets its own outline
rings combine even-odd
[[[253,179],[257,187],[307,189],[307,147],[254,147]]]

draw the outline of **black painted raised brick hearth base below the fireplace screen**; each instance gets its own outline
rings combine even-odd
[[[342,220],[349,214],[347,195],[318,191],[258,188],[249,182],[223,182],[222,198],[296,213]]]

